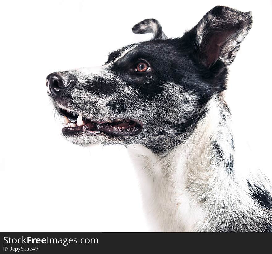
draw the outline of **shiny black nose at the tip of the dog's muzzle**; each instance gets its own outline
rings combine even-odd
[[[55,97],[58,93],[70,86],[74,82],[73,79],[69,78],[69,74],[66,72],[53,72],[46,77],[46,86],[49,87],[49,91]]]

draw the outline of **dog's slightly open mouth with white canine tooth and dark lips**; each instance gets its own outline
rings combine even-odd
[[[94,121],[83,117],[81,114],[74,115],[66,110],[58,110],[64,118],[62,133],[69,135],[77,132],[89,132],[91,134],[106,133],[112,136],[133,136],[142,130],[142,123],[135,119],[113,119]]]

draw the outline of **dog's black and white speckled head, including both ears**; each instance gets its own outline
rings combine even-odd
[[[154,39],[109,54],[101,67],[48,75],[48,93],[75,144],[142,144],[156,153],[185,140],[226,88],[227,66],[251,13],[217,6],[183,37],[167,39],[155,19],[133,27]]]

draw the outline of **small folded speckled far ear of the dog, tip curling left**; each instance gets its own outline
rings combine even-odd
[[[145,19],[139,22],[132,28],[132,32],[137,34],[153,33],[153,40],[167,39],[157,19]]]

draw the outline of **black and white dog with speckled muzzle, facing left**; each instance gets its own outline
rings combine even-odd
[[[146,19],[132,31],[152,40],[114,51],[101,67],[46,79],[68,140],[137,154],[158,230],[272,231],[271,184],[236,157],[224,101],[228,66],[251,24],[251,12],[217,6],[168,39]]]

